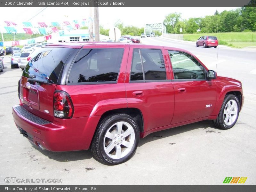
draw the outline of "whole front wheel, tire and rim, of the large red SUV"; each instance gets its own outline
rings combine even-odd
[[[240,111],[240,102],[236,95],[226,95],[218,117],[213,120],[216,127],[220,129],[230,129],[236,124]]]

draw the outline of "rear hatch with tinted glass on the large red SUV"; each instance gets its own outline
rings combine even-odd
[[[36,116],[53,121],[53,94],[73,48],[37,48],[29,57],[20,81],[20,99]]]

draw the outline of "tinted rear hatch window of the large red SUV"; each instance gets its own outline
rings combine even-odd
[[[61,69],[73,51],[72,48],[45,47],[31,55],[22,76],[46,83],[57,84]]]

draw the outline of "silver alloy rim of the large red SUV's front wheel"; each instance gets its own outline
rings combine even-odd
[[[237,103],[235,100],[229,100],[224,108],[223,119],[226,125],[232,125],[236,121],[238,112]]]

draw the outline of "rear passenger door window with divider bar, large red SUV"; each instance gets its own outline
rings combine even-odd
[[[166,80],[164,59],[161,50],[134,49],[130,80]]]

